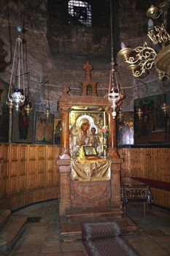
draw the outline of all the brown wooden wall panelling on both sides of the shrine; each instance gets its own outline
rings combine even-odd
[[[54,145],[0,144],[0,208],[12,210],[58,197]],[[170,148],[119,148],[121,176],[170,182]],[[170,208],[170,192],[152,189],[154,203]]]

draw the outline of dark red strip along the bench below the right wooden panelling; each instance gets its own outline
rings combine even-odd
[[[134,178],[134,180],[141,181],[145,184],[148,184],[150,187],[154,187],[156,189],[163,189],[163,190],[170,191],[170,182],[156,181],[150,178],[139,178],[139,177],[130,177],[130,178]]]

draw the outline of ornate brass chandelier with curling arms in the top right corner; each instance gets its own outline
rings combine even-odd
[[[165,0],[158,7],[152,5],[147,10],[147,16],[155,20],[163,15],[161,26],[154,26],[151,19],[148,21],[147,34],[152,44],[158,45],[161,50],[154,50],[154,48],[147,45],[147,42],[144,42],[143,46],[138,46],[134,49],[126,48],[121,43],[121,50],[117,53],[117,56],[128,64],[128,69],[131,69],[134,77],[146,75],[147,71],[155,65],[160,80],[170,79],[170,35],[166,31],[166,17],[169,4],[170,0]]]

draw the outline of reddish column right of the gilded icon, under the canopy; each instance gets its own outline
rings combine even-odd
[[[108,157],[119,158],[117,152],[116,118],[112,117],[112,108],[109,108],[109,152]]]

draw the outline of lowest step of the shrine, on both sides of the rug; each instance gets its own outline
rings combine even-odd
[[[102,219],[96,219],[96,222],[103,222]],[[131,234],[134,235],[136,230],[139,229],[139,225],[136,225],[128,217],[122,219],[109,218],[104,222],[117,222],[122,228],[122,235]],[[61,238],[63,241],[75,241],[82,238],[81,222],[66,222],[66,219],[61,219]]]

